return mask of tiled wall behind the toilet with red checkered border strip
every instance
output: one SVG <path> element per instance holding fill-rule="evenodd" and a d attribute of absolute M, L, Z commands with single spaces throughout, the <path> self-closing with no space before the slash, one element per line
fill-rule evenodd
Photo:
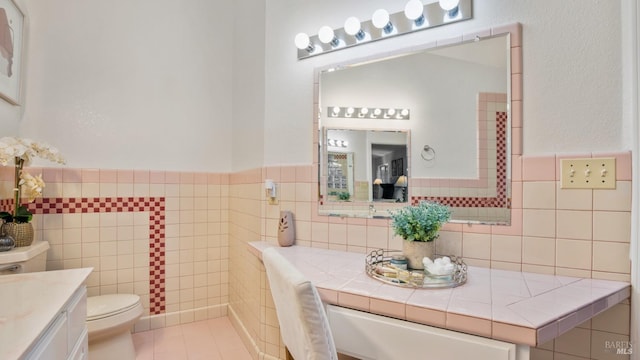
<path fill-rule="evenodd" d="M 137 331 L 226 315 L 228 175 L 30 168 L 43 197 L 29 204 L 47 270 L 93 267 L 88 294 L 135 293 Z M 13 168 L 0 168 L 11 207 Z"/>

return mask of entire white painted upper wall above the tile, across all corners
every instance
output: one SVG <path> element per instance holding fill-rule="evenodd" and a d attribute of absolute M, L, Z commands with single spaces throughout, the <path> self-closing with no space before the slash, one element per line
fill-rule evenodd
<path fill-rule="evenodd" d="M 21 3 L 30 17 L 26 96 L 21 108 L 0 103 L 2 134 L 48 141 L 72 167 L 309 164 L 315 67 L 512 22 L 524 32 L 525 154 L 626 150 L 632 143 L 621 111 L 616 1 L 476 1 L 471 21 L 304 61 L 295 56 L 297 32 L 341 27 L 350 15 L 369 19 L 378 7 L 401 11 L 404 2 L 271 0 L 263 4 L 264 26 L 251 21 L 262 18 L 258 0 Z M 242 8 L 254 12 L 244 30 L 236 23 L 244 32 L 232 35 L 227 29 Z M 234 82 L 233 74 L 245 77 Z M 244 156 L 258 151 L 262 160 Z"/>

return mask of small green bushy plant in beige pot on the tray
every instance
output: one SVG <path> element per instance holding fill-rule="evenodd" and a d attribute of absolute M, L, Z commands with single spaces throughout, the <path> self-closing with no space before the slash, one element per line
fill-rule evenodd
<path fill-rule="evenodd" d="M 418 205 L 391 211 L 391 227 L 395 235 L 404 239 L 402 252 L 410 268 L 423 269 L 422 259 L 433 257 L 434 240 L 442 224 L 450 218 L 449 207 L 435 201 L 421 201 Z"/>

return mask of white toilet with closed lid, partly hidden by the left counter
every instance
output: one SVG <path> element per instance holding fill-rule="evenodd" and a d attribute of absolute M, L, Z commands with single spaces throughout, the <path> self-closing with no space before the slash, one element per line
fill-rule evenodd
<path fill-rule="evenodd" d="M 45 271 L 46 241 L 0 252 L 0 275 Z M 133 294 L 110 294 L 87 297 L 89 359 L 134 360 L 136 358 L 131 328 L 142 316 L 140 297 Z"/>

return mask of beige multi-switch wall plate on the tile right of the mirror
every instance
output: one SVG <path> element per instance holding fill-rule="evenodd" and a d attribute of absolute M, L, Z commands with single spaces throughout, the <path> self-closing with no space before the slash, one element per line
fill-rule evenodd
<path fill-rule="evenodd" d="M 561 159 L 562 189 L 615 189 L 616 159 Z"/>

